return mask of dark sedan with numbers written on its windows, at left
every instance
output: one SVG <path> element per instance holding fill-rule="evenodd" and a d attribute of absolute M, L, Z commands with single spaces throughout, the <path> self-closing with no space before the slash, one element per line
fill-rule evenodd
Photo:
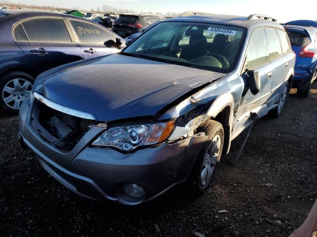
<path fill-rule="evenodd" d="M 100 24 L 48 11 L 1 10 L 0 35 L 0 104 L 13 113 L 28 98 L 40 73 L 125 46 Z"/>

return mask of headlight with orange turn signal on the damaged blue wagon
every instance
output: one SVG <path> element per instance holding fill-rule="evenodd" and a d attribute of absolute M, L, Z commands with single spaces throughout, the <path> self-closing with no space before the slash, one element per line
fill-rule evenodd
<path fill-rule="evenodd" d="M 171 133 L 175 121 L 111 127 L 101 134 L 93 146 L 116 147 L 131 151 L 139 146 L 157 144 L 164 141 Z"/>

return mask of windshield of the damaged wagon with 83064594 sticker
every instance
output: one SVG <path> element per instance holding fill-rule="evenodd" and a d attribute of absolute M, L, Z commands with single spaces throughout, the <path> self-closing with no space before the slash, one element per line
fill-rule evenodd
<path fill-rule="evenodd" d="M 210 71 L 230 72 L 245 29 L 234 26 L 161 22 L 123 50 L 124 54 Z"/>

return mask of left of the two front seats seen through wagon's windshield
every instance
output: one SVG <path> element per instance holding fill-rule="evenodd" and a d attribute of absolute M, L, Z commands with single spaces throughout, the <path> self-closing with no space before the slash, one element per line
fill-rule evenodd
<path fill-rule="evenodd" d="M 207 39 L 203 35 L 193 35 L 189 39 L 188 48 L 183 49 L 180 58 L 192 60 L 207 53 Z"/>

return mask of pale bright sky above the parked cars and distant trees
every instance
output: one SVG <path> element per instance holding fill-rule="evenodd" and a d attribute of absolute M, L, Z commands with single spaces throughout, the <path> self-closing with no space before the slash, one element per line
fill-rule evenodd
<path fill-rule="evenodd" d="M 134 12 L 203 11 L 215 14 L 265 14 L 280 22 L 298 19 L 317 19 L 317 0 L 9 0 L 15 3 L 80 7 L 87 10 L 103 4 Z"/>

